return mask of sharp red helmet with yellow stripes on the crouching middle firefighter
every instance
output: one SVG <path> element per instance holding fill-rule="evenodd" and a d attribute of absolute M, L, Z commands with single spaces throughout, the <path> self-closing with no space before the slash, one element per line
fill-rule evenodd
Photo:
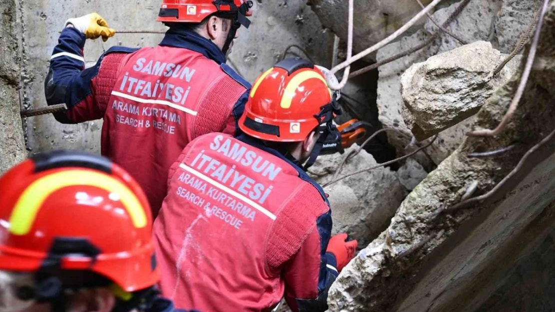
<path fill-rule="evenodd" d="M 300 58 L 285 59 L 256 79 L 239 127 L 261 140 L 304 141 L 317 126 L 331 123 L 339 110 L 334 104 L 320 69 Z"/>

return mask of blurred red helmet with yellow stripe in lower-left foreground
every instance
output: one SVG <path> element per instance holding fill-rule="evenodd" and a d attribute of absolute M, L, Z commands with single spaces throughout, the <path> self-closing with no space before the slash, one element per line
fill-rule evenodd
<path fill-rule="evenodd" d="M 106 158 L 34 156 L 0 177 L 0 205 L 0 270 L 92 272 L 128 292 L 159 280 L 147 198 Z"/>

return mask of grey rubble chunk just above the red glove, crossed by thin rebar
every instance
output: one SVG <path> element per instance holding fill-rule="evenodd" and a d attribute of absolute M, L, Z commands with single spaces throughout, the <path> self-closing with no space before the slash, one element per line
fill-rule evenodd
<path fill-rule="evenodd" d="M 344 155 L 325 155 L 317 161 L 309 172 L 321 185 L 332 180 L 337 166 L 353 145 Z M 339 176 L 361 170 L 376 161 L 372 155 L 362 150 L 358 155 L 347 161 Z M 397 207 L 407 195 L 405 187 L 397 179 L 396 172 L 388 168 L 377 168 L 370 172 L 346 178 L 324 189 L 330 195 L 334 233 L 346 232 L 365 245 L 377 237 L 390 222 L 397 211 Z"/>

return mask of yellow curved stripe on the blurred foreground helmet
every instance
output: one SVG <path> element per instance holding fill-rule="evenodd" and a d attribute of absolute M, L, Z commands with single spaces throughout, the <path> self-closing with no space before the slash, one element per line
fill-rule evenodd
<path fill-rule="evenodd" d="M 143 205 L 122 182 L 100 172 L 69 170 L 44 176 L 26 188 L 9 218 L 9 232 L 14 235 L 29 233 L 44 200 L 53 192 L 68 186 L 94 186 L 117 193 L 123 206 L 127 209 L 133 225 L 136 228 L 143 228 L 147 225 L 147 215 Z"/>

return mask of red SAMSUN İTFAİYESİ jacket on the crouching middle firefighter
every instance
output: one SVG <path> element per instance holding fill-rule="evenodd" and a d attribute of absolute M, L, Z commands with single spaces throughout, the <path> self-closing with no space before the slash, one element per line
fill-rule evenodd
<path fill-rule="evenodd" d="M 325 311 L 331 211 L 298 162 L 245 135 L 195 139 L 154 222 L 160 288 L 178 308 Z"/>

